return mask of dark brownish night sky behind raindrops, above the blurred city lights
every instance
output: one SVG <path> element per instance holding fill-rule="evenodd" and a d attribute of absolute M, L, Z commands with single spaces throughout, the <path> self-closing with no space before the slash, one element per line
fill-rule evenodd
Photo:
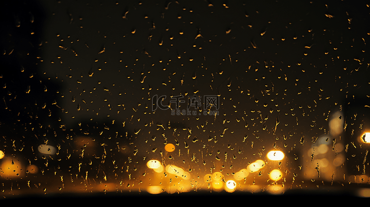
<path fill-rule="evenodd" d="M 127 123 L 134 116 L 141 122 L 188 126 L 195 117 L 171 116 L 169 110 L 143 113 L 151 112 L 148 98 L 155 94 L 189 97 L 197 92 L 221 95 L 220 113 L 226 116 L 219 116 L 219 122 L 246 115 L 258 118 L 254 110 L 263 117 L 269 114 L 270 129 L 276 117 L 282 123 L 295 123 L 297 117 L 302 124 L 290 128 L 292 133 L 308 130 L 317 136 L 308 127 L 312 119 L 323 126 L 328 112 L 344 104 L 346 95 L 368 95 L 369 61 L 363 51 L 369 38 L 364 27 L 369 7 L 364 2 L 209 3 L 43 2 L 46 22 L 39 66 L 46 72 L 43 77 L 60 83 L 62 120 L 74 126 L 80 119 Z M 205 120 L 213 117 L 201 116 L 198 122 Z M 141 128 L 141 122 L 130 124 Z M 231 123 L 230 128 L 238 126 Z"/>

